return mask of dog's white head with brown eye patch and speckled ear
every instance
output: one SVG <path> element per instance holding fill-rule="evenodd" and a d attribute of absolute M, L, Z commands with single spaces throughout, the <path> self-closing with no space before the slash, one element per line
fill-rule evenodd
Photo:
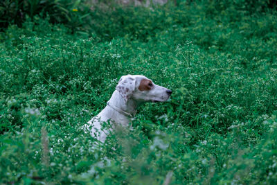
<path fill-rule="evenodd" d="M 168 100 L 172 91 L 155 85 L 152 80 L 141 75 L 122 76 L 116 90 L 127 103 L 130 98 L 137 101 L 163 102 Z"/>

